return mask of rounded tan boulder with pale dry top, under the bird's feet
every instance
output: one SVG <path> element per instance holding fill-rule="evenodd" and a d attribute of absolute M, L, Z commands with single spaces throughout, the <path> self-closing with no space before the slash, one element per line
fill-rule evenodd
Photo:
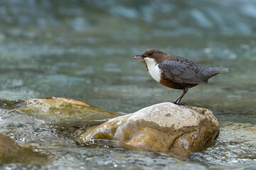
<path fill-rule="evenodd" d="M 109 141 L 114 147 L 186 157 L 213 145 L 218 134 L 218 121 L 212 111 L 159 103 L 90 128 L 77 142 Z"/>

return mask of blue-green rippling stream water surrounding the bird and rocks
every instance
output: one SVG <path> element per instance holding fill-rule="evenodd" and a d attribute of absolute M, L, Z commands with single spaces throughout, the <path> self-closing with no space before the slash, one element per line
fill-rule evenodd
<path fill-rule="evenodd" d="M 256 169 L 255 33 L 252 0 L 0 1 L 0 98 L 65 96 L 127 114 L 174 101 L 181 94 L 158 84 L 132 59 L 147 48 L 229 67 L 230 72 L 190 89 L 183 98 L 189 105 L 209 108 L 218 118 L 220 137 L 205 152 L 174 159 L 125 149 L 81 148 L 73 142 L 52 147 L 46 141 L 41 147 L 55 161 L 35 167 Z M 37 124 L 26 130 L 32 132 L 33 126 Z M 6 134 L 15 130 L 1 128 Z M 22 142 L 23 137 L 15 139 Z"/>

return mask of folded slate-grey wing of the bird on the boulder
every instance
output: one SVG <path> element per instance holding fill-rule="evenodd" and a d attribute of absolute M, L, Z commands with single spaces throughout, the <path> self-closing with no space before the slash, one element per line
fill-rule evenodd
<path fill-rule="evenodd" d="M 207 80 L 199 77 L 196 68 L 190 67 L 189 63 L 178 61 L 160 62 L 159 68 L 163 70 L 165 79 L 170 79 L 178 84 L 207 83 Z"/>

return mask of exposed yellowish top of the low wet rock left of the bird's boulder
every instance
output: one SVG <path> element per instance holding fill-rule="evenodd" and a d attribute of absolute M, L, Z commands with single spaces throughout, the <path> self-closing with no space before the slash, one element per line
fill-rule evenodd
<path fill-rule="evenodd" d="M 32 98 L 19 103 L 18 111 L 26 114 L 43 115 L 45 118 L 70 118 L 74 115 L 94 115 L 93 118 L 99 117 L 95 114 L 100 113 L 100 118 L 105 118 L 104 115 L 117 116 L 119 114 L 110 111 L 103 111 L 100 108 L 90 106 L 82 101 L 75 101 L 71 98 L 64 97 L 47 97 L 47 98 Z"/>

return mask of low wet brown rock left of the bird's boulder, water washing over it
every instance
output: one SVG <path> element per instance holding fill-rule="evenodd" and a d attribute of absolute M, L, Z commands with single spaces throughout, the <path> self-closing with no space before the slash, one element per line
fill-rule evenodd
<path fill-rule="evenodd" d="M 78 129 L 87 129 L 93 125 L 100 125 L 107 120 L 120 115 L 110 111 L 103 111 L 82 101 L 75 101 L 64 97 L 32 98 L 18 101 L 0 101 L 0 106 L 6 111 L 16 111 L 18 115 L 41 120 L 60 136 L 73 137 Z"/>

